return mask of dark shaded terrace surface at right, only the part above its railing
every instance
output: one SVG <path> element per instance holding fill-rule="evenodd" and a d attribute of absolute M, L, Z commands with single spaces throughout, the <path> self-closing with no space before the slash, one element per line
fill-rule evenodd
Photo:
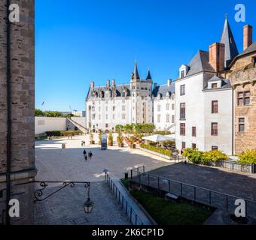
<path fill-rule="evenodd" d="M 150 171 L 152 175 L 208 188 L 221 193 L 251 199 L 256 202 L 256 174 L 217 167 L 179 163 Z"/>

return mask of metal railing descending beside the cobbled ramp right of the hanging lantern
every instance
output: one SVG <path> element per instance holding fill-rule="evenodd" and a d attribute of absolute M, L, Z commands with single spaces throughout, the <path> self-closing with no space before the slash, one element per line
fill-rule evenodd
<path fill-rule="evenodd" d="M 114 184 L 114 181 L 111 179 L 108 173 L 105 174 L 105 181 L 108 184 L 111 193 L 113 193 L 115 199 L 117 199 L 120 208 L 125 212 L 126 216 L 130 220 L 130 223 L 132 223 L 133 225 L 144 225 L 139 215 L 127 201 L 125 196 L 123 196 L 123 194 L 120 192 L 116 184 Z"/>

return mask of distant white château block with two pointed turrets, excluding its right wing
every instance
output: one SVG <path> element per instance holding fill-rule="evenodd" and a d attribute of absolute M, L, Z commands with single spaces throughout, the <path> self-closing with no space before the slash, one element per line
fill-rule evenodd
<path fill-rule="evenodd" d="M 130 84 L 115 85 L 114 80 L 106 86 L 94 86 L 86 99 L 87 128 L 90 130 L 114 130 L 117 124 L 151 124 L 153 122 L 152 80 L 150 71 L 141 80 L 137 65 Z"/>

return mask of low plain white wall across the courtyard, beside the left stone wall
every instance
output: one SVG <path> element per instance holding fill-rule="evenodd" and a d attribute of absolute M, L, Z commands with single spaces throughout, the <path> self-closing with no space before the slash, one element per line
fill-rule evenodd
<path fill-rule="evenodd" d="M 66 130 L 66 118 L 35 117 L 35 135 L 49 130 Z"/>

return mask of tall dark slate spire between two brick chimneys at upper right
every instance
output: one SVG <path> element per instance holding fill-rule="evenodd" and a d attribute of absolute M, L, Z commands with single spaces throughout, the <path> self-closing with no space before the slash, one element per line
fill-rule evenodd
<path fill-rule="evenodd" d="M 225 44 L 225 68 L 227 68 L 233 58 L 239 54 L 236 47 L 236 41 L 230 28 L 230 23 L 228 23 L 227 20 L 227 13 L 225 15 L 225 23 L 221 35 L 221 43 Z"/>

